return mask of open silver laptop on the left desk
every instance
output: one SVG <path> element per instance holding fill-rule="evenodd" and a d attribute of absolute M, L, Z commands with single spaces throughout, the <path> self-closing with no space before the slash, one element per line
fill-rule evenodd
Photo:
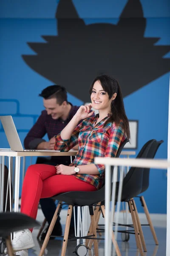
<path fill-rule="evenodd" d="M 12 151 L 60 152 L 59 150 L 23 149 L 12 116 L 0 116 L 0 120 Z"/>

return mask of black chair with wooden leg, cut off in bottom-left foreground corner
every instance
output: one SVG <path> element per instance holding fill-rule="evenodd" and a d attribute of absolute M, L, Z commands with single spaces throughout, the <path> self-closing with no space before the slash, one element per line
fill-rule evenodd
<path fill-rule="evenodd" d="M 6 244 L 8 250 L 8 256 L 14 256 L 14 252 L 11 245 L 10 233 L 26 228 L 32 228 L 40 226 L 40 224 L 28 217 L 27 215 L 20 212 L 1 212 L 0 213 L 0 237 L 1 252 L 3 253 L 4 244 Z"/>

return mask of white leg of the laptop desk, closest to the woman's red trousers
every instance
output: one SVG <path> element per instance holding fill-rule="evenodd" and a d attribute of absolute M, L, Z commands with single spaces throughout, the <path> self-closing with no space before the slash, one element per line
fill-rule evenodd
<path fill-rule="evenodd" d="M 19 188 L 20 188 L 20 157 L 16 157 L 16 162 L 15 162 L 14 212 L 18 212 Z"/>

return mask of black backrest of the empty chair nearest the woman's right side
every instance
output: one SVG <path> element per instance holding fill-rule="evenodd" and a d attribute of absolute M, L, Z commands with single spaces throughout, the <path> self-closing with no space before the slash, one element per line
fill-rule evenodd
<path fill-rule="evenodd" d="M 136 158 L 148 158 L 148 151 L 155 140 L 144 144 Z M 140 194 L 142 190 L 144 168 L 131 167 L 123 180 L 122 200 L 128 200 Z"/>

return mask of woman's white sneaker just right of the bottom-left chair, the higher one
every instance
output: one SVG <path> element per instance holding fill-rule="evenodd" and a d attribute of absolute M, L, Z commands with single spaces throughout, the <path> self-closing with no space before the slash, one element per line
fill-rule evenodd
<path fill-rule="evenodd" d="M 14 239 L 11 241 L 11 244 L 15 252 L 29 249 L 35 246 L 32 233 L 28 229 L 16 232 Z M 5 249 L 5 253 L 7 253 L 7 248 Z"/>

